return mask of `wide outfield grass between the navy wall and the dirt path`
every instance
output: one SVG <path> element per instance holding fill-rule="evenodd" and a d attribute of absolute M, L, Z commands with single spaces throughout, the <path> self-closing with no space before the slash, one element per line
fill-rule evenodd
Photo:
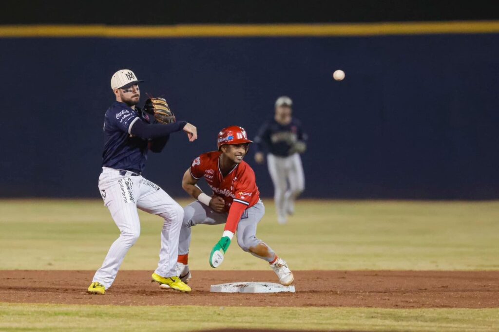
<path fill-rule="evenodd" d="M 189 201 L 181 201 L 184 206 Z M 280 226 L 271 200 L 258 237 L 294 270 L 498 270 L 499 202 L 301 200 Z M 162 220 L 140 213 L 122 269 L 156 267 Z M 119 232 L 100 200 L 0 200 L 1 269 L 100 267 Z M 223 226 L 193 228 L 191 269 L 209 269 Z M 221 269 L 266 269 L 233 244 Z"/>

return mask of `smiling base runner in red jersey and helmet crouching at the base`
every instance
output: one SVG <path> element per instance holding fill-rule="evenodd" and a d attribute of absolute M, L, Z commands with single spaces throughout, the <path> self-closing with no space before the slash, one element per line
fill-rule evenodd
<path fill-rule="evenodd" d="M 290 285 L 294 280 L 286 262 L 256 237 L 256 225 L 263 217 L 265 208 L 260 200 L 253 169 L 243 161 L 250 143 L 253 142 L 242 127 L 225 128 L 218 135 L 218 151 L 196 158 L 184 174 L 182 187 L 197 199 L 184 208 L 179 238 L 177 274 L 186 283 L 191 279 L 188 265 L 191 227 L 222 223 L 226 223 L 224 233 L 210 254 L 213 268 L 224 261 L 224 254 L 237 230 L 239 246 L 267 261 L 282 285 Z M 196 185 L 202 177 L 212 188 L 212 196 L 205 194 Z"/>

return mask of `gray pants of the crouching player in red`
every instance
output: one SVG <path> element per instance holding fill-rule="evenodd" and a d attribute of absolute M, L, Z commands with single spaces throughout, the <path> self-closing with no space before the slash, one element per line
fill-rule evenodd
<path fill-rule="evenodd" d="M 246 209 L 241 217 L 237 229 L 238 244 L 244 251 L 248 252 L 250 248 L 257 246 L 263 241 L 256 238 L 256 225 L 260 222 L 265 214 L 263 203 L 258 201 L 255 205 Z M 179 255 L 187 255 L 189 246 L 191 245 L 191 228 L 199 224 L 204 225 L 219 225 L 225 224 L 228 213 L 218 213 L 212 210 L 209 206 L 195 201 L 184 207 L 184 221 L 180 229 L 179 237 Z M 268 247 L 268 245 L 267 245 Z M 267 262 L 271 262 L 274 258 L 273 250 L 268 247 L 268 253 L 272 257 L 261 257 L 251 253 L 251 255 L 261 258 Z"/>

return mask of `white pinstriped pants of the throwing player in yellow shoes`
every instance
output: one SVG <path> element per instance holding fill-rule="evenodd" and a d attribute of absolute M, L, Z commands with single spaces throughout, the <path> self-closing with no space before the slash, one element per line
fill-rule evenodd
<path fill-rule="evenodd" d="M 164 219 L 161 231 L 161 250 L 156 273 L 162 277 L 175 276 L 179 234 L 184 218 L 184 209 L 163 189 L 141 175 L 102 167 L 99 190 L 104 205 L 111 212 L 120 236 L 109 248 L 102 267 L 97 270 L 92 282 L 99 282 L 106 289 L 111 287 L 128 249 L 140 236 L 140 220 L 137 208 Z"/>

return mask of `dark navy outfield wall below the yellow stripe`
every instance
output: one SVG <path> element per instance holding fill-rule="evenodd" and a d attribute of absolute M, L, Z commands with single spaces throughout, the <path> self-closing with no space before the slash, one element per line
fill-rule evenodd
<path fill-rule="evenodd" d="M 276 97 L 309 134 L 303 196 L 499 198 L 499 35 L 0 39 L 1 197 L 99 197 L 111 75 L 129 68 L 199 128 L 145 176 L 186 197 L 183 172 L 219 130 L 250 138 Z M 332 79 L 343 69 L 346 79 Z M 272 196 L 266 166 L 254 168 Z"/>

